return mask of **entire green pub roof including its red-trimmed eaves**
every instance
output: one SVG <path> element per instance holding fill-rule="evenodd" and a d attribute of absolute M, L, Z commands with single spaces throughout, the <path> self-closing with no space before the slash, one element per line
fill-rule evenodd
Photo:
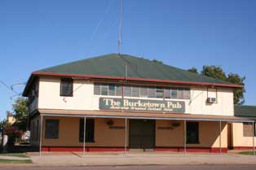
<path fill-rule="evenodd" d="M 180 68 L 174 68 L 173 66 L 161 62 L 143 59 L 141 57 L 135 57 L 128 54 L 105 54 L 33 72 L 24 89 L 24 96 L 27 95 L 27 90 L 29 89 L 30 83 L 33 82 L 33 78 L 42 75 L 148 81 L 179 85 L 212 85 L 232 88 L 243 87 L 243 85 L 235 85 L 227 81 L 202 76 Z"/>

